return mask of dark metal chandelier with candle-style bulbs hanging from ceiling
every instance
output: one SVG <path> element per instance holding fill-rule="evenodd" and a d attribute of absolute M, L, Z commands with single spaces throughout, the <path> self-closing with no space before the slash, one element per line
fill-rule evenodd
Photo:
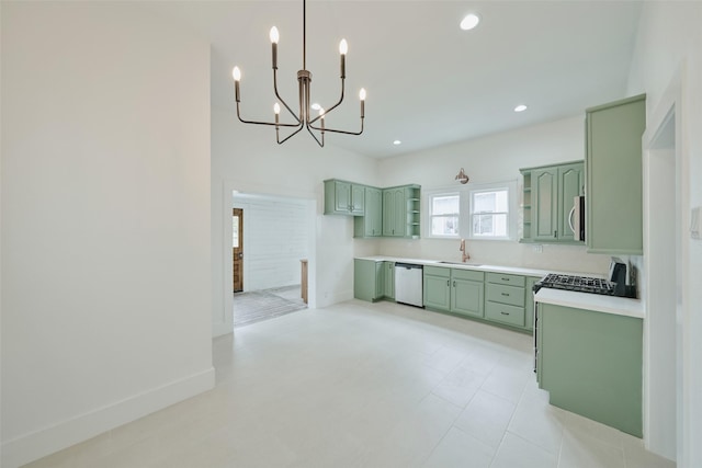
<path fill-rule="evenodd" d="M 331 111 L 337 109 L 339 104 L 343 101 L 343 91 L 344 91 L 344 82 L 346 82 L 346 56 L 349 49 L 346 39 L 341 39 L 339 43 L 339 54 L 341 58 L 341 96 L 339 98 L 339 102 L 337 102 L 331 107 L 326 111 L 324 107 L 319 107 L 319 114 L 316 117 L 310 115 L 313 110 L 313 104 L 310 103 L 310 83 L 312 83 L 312 72 L 307 70 L 307 14 L 306 14 L 307 5 L 306 0 L 303 0 L 303 69 L 297 71 L 297 82 L 299 90 L 299 111 L 295 113 L 290 105 L 281 98 L 278 92 L 278 41 L 279 33 L 275 26 L 271 27 L 270 38 L 272 46 L 272 56 L 273 56 L 273 91 L 275 93 L 275 98 L 283 104 L 283 106 L 287 110 L 287 112 L 293 116 L 295 123 L 282 123 L 280 122 L 281 114 L 281 105 L 276 102 L 273 105 L 273 113 L 275 114 L 275 122 L 257 122 L 257 121 L 247 121 L 241 118 L 241 113 L 239 110 L 239 103 L 241 101 L 239 93 L 239 83 L 241 81 L 241 70 L 239 67 L 234 67 L 231 70 L 231 76 L 234 78 L 234 88 L 237 101 L 237 117 L 245 124 L 256 124 L 256 125 L 270 125 L 275 127 L 275 139 L 279 145 L 284 144 L 291 137 L 299 133 L 303 128 L 307 128 L 307 132 L 315 138 L 317 144 L 320 147 L 325 146 L 325 133 L 331 132 L 335 134 L 344 134 L 344 135 L 361 135 L 363 133 L 363 118 L 365 114 L 365 89 L 361 88 L 359 92 L 359 99 L 361 100 L 361 129 L 359 132 L 347 132 L 340 130 L 336 128 L 325 127 L 325 116 L 329 114 Z M 280 129 L 284 128 L 294 128 L 295 130 L 288 136 L 284 137 L 281 140 Z M 317 136 L 315 133 L 319 134 Z"/>

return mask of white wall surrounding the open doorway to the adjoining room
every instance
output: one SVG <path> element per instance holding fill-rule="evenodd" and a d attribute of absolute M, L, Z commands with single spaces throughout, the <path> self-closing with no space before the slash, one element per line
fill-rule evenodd
<path fill-rule="evenodd" d="M 261 104 L 268 105 L 268 104 Z M 246 125 L 236 109 L 212 107 L 212 249 L 215 335 L 231 333 L 231 191 L 294 196 L 316 202 L 309 253 L 309 306 L 325 307 L 353 297 L 353 256 L 377 252 L 375 242 L 353 240 L 353 219 L 324 216 L 325 179 L 377 185 L 375 159 L 335 148 L 328 136 L 319 148 L 306 133 L 284 145 L 270 127 Z"/>

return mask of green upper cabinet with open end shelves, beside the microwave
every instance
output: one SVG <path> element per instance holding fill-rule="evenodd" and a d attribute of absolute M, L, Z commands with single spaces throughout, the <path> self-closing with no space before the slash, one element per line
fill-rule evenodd
<path fill-rule="evenodd" d="M 523 175 L 521 242 L 582 244 L 570 228 L 574 198 L 585 195 L 585 163 L 520 169 Z"/>

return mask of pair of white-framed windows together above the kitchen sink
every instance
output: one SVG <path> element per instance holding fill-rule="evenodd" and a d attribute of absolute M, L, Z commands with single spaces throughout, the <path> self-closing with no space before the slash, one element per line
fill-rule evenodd
<path fill-rule="evenodd" d="M 427 237 L 498 239 L 517 236 L 517 181 L 427 193 Z"/>

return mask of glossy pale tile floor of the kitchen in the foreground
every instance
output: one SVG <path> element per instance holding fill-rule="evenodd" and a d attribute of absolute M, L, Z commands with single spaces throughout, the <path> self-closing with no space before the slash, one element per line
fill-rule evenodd
<path fill-rule="evenodd" d="M 214 342 L 217 385 L 39 467 L 669 468 L 547 403 L 531 336 L 349 301 Z"/>

